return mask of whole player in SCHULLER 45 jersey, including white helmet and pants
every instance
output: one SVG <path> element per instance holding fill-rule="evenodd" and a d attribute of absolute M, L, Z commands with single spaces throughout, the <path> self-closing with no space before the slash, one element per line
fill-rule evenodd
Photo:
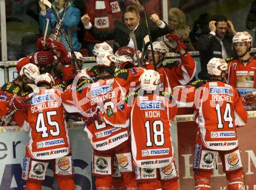
<path fill-rule="evenodd" d="M 41 189 L 45 172 L 51 162 L 60 189 L 74 189 L 71 145 L 67 135 L 61 94 L 52 89 L 54 79 L 48 73 L 39 75 L 35 83 L 38 94 L 29 94 L 25 113 L 30 131 L 23 160 L 22 179 L 26 190 Z"/>

